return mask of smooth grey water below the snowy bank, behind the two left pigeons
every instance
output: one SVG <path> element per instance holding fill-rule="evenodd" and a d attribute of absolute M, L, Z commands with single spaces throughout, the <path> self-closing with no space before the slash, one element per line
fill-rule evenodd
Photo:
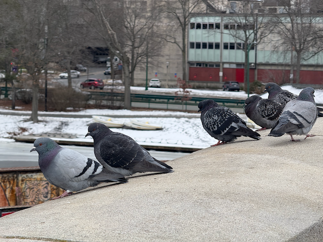
<path fill-rule="evenodd" d="M 29 167 L 38 165 L 38 153 L 30 152 L 33 147 L 31 143 L 24 142 L 0 142 L 0 168 L 4 167 Z M 88 158 L 97 160 L 94 156 L 93 147 L 62 145 L 72 150 L 75 150 Z M 166 152 L 153 151 L 149 153 L 158 160 L 172 160 L 189 153 L 183 152 Z"/>

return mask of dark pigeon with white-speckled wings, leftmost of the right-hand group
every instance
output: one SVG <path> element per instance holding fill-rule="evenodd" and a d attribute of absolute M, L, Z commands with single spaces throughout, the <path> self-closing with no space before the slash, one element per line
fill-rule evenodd
<path fill-rule="evenodd" d="M 198 108 L 198 111 L 201 112 L 204 130 L 210 136 L 219 140 L 217 144 L 211 146 L 234 141 L 240 136 L 248 136 L 255 140 L 260 139 L 260 135 L 249 129 L 246 123 L 230 108 L 219 106 L 211 99 L 200 101 Z"/>

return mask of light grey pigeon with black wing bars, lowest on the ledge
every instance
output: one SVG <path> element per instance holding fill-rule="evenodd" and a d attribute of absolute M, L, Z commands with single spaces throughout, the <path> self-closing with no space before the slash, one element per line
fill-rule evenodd
<path fill-rule="evenodd" d="M 30 150 L 38 152 L 41 172 L 50 184 L 66 190 L 58 199 L 99 183 L 127 183 L 124 175 L 105 169 L 100 163 L 67 148 L 49 138 L 38 138 Z"/>

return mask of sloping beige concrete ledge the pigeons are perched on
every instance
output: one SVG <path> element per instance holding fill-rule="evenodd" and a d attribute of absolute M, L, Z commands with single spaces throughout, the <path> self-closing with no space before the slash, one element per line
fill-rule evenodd
<path fill-rule="evenodd" d="M 0 241 L 323 241 L 322 125 L 300 142 L 261 131 L 169 161 L 173 173 L 7 215 Z"/>

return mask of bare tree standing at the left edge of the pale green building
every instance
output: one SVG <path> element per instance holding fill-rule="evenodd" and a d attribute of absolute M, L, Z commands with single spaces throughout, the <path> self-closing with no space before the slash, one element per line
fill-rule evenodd
<path fill-rule="evenodd" d="M 203 4 L 200 0 L 161 0 L 158 1 L 158 6 L 161 11 L 172 17 L 176 23 L 178 23 L 178 29 L 174 29 L 172 32 L 167 32 L 164 35 L 164 39 L 169 42 L 176 44 L 182 52 L 182 67 L 183 67 L 183 80 L 187 80 L 187 29 L 190 19 L 200 14 Z M 179 35 L 180 39 L 177 38 Z"/>

